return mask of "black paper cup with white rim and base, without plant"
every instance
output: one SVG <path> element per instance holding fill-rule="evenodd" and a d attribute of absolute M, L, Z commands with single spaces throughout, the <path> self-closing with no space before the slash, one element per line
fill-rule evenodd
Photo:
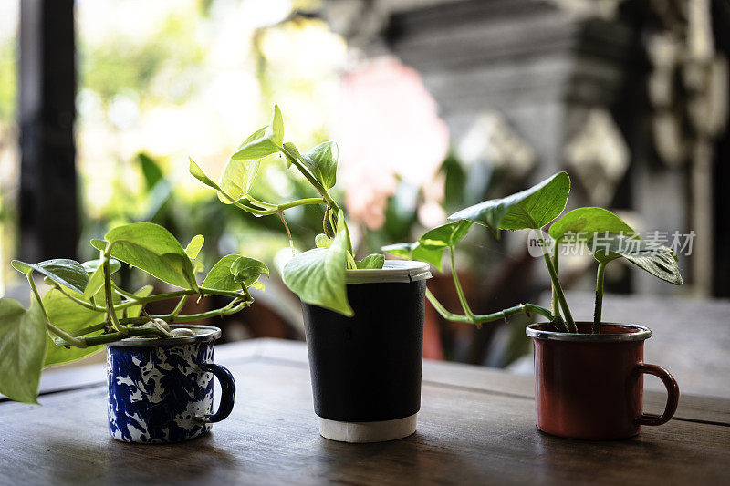
<path fill-rule="evenodd" d="M 387 260 L 380 270 L 348 270 L 354 316 L 302 304 L 322 437 L 378 442 L 415 432 L 430 277 L 428 264 Z"/>

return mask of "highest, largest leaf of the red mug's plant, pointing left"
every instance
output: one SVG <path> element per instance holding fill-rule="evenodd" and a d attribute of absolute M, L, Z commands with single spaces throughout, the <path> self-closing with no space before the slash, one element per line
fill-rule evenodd
<path fill-rule="evenodd" d="M 498 237 L 498 230 L 542 228 L 563 212 L 569 192 L 570 178 L 562 171 L 525 191 L 455 212 L 449 216 L 449 221 L 484 224 L 495 237 Z"/>

